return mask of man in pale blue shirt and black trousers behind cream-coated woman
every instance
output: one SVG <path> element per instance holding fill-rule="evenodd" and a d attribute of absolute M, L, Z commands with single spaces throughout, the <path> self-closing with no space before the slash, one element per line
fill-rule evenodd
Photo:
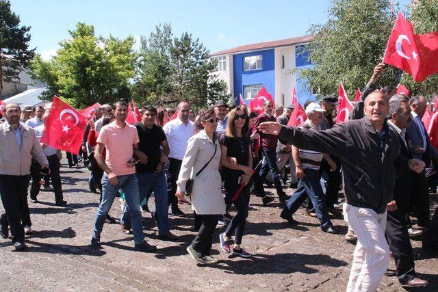
<path fill-rule="evenodd" d="M 164 133 L 169 144 L 169 169 L 167 176 L 169 204 L 172 205 L 172 214 L 185 215 L 178 207 L 178 199 L 175 196 L 177 192 L 177 179 L 179 169 L 185 155 L 187 143 L 194 134 L 194 122 L 189 120 L 190 105 L 185 101 L 178 104 L 178 117 L 170 120 L 164 127 Z"/>

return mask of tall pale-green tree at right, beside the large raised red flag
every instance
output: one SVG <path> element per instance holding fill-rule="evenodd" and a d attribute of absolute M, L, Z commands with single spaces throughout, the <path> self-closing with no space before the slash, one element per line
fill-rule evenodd
<path fill-rule="evenodd" d="M 314 40 L 305 47 L 313 68 L 296 69 L 298 78 L 305 78 L 309 87 L 319 88 L 320 94 L 336 92 L 339 82 L 350 98 L 356 88 L 370 79 L 374 66 L 381 62 L 391 29 L 388 0 L 332 0 L 329 21 L 313 25 Z M 385 68 L 378 85 L 396 85 L 399 70 Z"/>

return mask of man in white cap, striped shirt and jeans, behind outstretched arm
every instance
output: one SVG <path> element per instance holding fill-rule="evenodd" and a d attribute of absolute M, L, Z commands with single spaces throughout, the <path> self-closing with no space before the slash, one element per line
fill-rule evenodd
<path fill-rule="evenodd" d="M 310 103 L 307 105 L 306 114 L 308 120 L 306 120 L 301 127 L 318 131 L 318 126 L 323 118 L 323 112 L 324 109 L 322 109 L 318 103 Z M 326 233 L 337 233 L 337 229 L 333 227 L 330 221 L 329 212 L 327 211 L 324 201 L 324 192 L 320 185 L 320 164 L 322 159 L 326 159 L 329 165 L 331 165 L 331 171 L 336 170 L 336 163 L 329 155 L 312 150 L 298 149 L 295 146 L 292 146 L 292 155 L 296 165 L 296 177 L 300 178 L 300 181 L 298 188 L 294 195 L 292 195 L 292 198 L 287 202 L 287 206 L 283 209 L 280 216 L 291 225 L 298 224 L 298 222 L 292 218 L 292 215 L 306 200 L 307 196 L 309 196 L 315 208 L 316 216 L 321 222 L 320 227 L 322 231 Z"/>

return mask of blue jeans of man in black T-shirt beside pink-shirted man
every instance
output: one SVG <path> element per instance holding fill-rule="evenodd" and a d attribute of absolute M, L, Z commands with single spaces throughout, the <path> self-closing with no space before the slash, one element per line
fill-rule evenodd
<path fill-rule="evenodd" d="M 150 191 L 153 191 L 155 196 L 155 212 L 157 212 L 158 218 L 158 235 L 165 235 L 170 230 L 166 176 L 164 175 L 164 172 L 147 172 L 137 174 L 137 178 L 138 189 L 140 190 L 139 207 L 140 202 L 143 202 L 146 195 L 149 194 Z M 126 206 L 123 210 L 122 219 L 120 221 L 127 226 L 130 225 Z"/>

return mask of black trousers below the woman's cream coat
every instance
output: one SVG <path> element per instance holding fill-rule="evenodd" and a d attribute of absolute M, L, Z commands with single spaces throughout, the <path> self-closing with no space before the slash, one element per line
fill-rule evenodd
<path fill-rule="evenodd" d="M 202 221 L 196 237 L 192 241 L 192 248 L 200 252 L 203 256 L 209 256 L 211 245 L 213 244 L 213 234 L 218 225 L 220 215 L 199 215 L 198 220 Z"/>

